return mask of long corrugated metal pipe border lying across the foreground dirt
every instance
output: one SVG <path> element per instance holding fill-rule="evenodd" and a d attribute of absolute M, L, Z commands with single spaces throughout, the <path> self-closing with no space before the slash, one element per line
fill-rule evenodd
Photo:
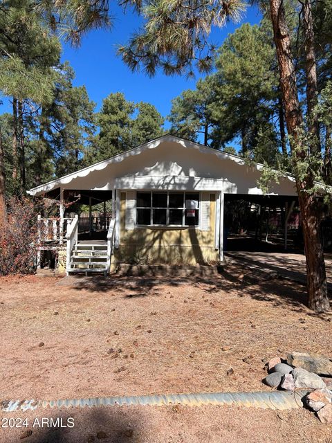
<path fill-rule="evenodd" d="M 294 409 L 303 407 L 302 399 L 309 390 L 273 392 L 202 392 L 197 394 L 135 395 L 129 397 L 95 397 L 86 399 L 59 400 L 4 400 L 0 401 L 2 412 L 35 410 L 37 408 L 93 408 L 95 406 L 187 406 L 237 405 L 248 408 Z"/>

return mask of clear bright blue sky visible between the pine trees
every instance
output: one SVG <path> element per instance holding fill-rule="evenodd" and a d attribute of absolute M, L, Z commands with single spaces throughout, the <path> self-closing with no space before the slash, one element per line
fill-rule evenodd
<path fill-rule="evenodd" d="M 143 73 L 131 73 L 120 57 L 116 55 L 117 44 L 124 44 L 133 30 L 138 30 L 140 20 L 137 15 L 127 12 L 122 14 L 120 8 L 113 11 L 115 15 L 112 30 L 95 30 L 84 36 L 80 48 L 63 45 L 62 61 L 68 60 L 75 70 L 75 86 L 84 84 L 89 97 L 100 109 L 102 99 L 111 92 L 122 92 L 127 100 L 145 101 L 156 106 L 164 117 L 169 114 L 172 98 L 184 89 L 194 88 L 196 80 L 186 80 L 180 76 L 167 77 L 158 73 L 149 78 Z M 250 7 L 243 15 L 242 23 L 258 23 L 261 16 L 257 8 Z M 241 24 L 227 24 L 224 28 L 212 30 L 211 39 L 220 46 L 229 33 Z M 1 111 L 9 111 L 8 103 L 3 103 Z"/>

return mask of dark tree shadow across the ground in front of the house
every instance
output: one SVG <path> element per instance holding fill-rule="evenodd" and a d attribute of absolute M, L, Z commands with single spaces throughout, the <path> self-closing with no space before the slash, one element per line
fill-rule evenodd
<path fill-rule="evenodd" d="M 278 268 L 270 266 L 270 270 L 278 271 Z M 203 291 L 208 293 L 228 291 L 238 297 L 250 297 L 257 301 L 270 302 L 274 307 L 283 305 L 294 311 L 308 311 L 304 283 L 284 278 L 277 272 L 261 271 L 259 265 L 257 269 L 248 271 L 246 264 L 242 266 L 239 263 L 230 264 L 221 273 L 206 278 L 116 277 L 114 275 L 104 278 L 94 275 L 89 277 L 71 276 L 68 279 L 70 280 L 67 280 L 66 284 L 77 291 L 84 289 L 91 292 L 122 292 L 124 300 L 160 296 L 158 288 L 162 286 L 169 287 L 169 291 L 172 291 L 172 287 L 192 284 L 194 287 L 201 287 Z M 311 311 L 308 311 L 308 315 L 326 319 L 324 315 Z"/>

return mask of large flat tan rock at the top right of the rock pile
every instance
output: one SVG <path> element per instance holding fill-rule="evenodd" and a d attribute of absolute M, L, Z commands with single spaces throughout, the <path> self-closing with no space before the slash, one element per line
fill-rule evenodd
<path fill-rule="evenodd" d="M 304 368 L 308 372 L 315 372 L 315 374 L 332 375 L 332 361 L 324 355 L 291 352 L 287 355 L 287 363 L 295 368 Z"/>

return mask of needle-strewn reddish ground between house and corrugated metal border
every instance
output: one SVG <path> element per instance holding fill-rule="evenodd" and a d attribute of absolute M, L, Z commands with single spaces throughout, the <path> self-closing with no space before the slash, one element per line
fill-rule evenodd
<path fill-rule="evenodd" d="M 1 399 L 268 390 L 272 356 L 331 356 L 305 287 L 243 280 L 0 278 Z M 69 283 L 71 280 L 69 280 Z"/>

